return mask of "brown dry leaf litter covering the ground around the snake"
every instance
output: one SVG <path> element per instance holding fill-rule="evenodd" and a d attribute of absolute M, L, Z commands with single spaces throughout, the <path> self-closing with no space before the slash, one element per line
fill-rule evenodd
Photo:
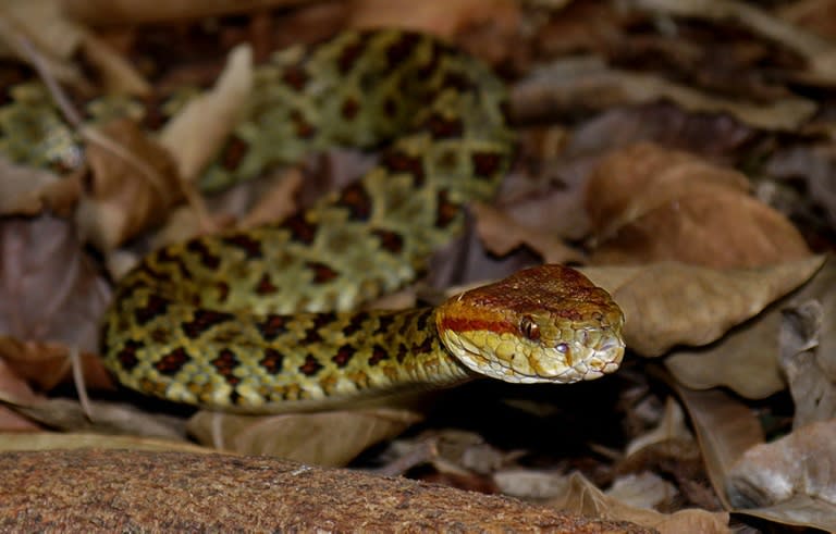
<path fill-rule="evenodd" d="M 27 2 L 19 3 L 15 10 Z M 143 95 L 206 72 L 202 85 L 217 80 L 218 89 L 172 123 L 161 144 L 130 122 L 103 125 L 103 152 L 89 145 L 83 172 L 59 176 L 0 165 L 0 394 L 10 415 L 0 412 L 0 424 L 7 432 L 91 432 L 101 436 L 95 446 L 107 446 L 113 433 L 125 434 L 110 438 L 120 447 L 140 447 L 151 435 L 185 444 L 177 410 L 165 419 L 176 430 L 163 431 L 169 423 L 157 412 L 170 407 L 149 405 L 143 413 L 133 406 L 142 409 L 140 400 L 99 393 L 112 386 L 96 359 L 98 321 L 112 287 L 100 274 L 103 265 L 121 264 L 110 272 L 124 272 L 149 246 L 281 218 L 299 198 L 334 187 L 319 179 L 314 160 L 214 198 L 197 197 L 189 183 L 246 98 L 250 52 L 232 53 L 224 75 L 220 61 L 206 71 L 195 58 L 221 58 L 249 41 L 258 60 L 282 38 L 315 40 L 341 21 L 411 20 L 509 76 L 520 157 L 496 201 L 470 210 L 469 234 L 437 254 L 427 285 L 405 301 L 416 291 L 432 295 L 428 286 L 497 278 L 530 262 L 583 264 L 625 309 L 630 352 L 624 369 L 561 392 L 474 385 L 418 412 L 267 419 L 198 412 L 190 434 L 206 447 L 330 465 L 354 461 L 661 532 L 726 532 L 733 511 L 738 525 L 748 513 L 834 527 L 833 261 L 812 256 L 831 250 L 836 236 L 834 125 L 832 104 L 799 90 L 836 84 L 829 29 L 836 25 L 823 23 L 833 15 L 799 14 L 832 2 L 775 10 L 725 0 L 618 8 L 580 0 L 311 4 L 251 14 L 258 24 L 244 27 L 221 15 L 201 32 L 216 32 L 223 50 L 201 49 L 197 34 L 161 22 L 198 21 L 208 15 L 200 5 L 187 15 L 127 11 L 121 27 L 102 30 L 78 21 L 107 12 L 72 3 L 75 22 L 53 25 L 58 37 L 32 37 L 36 53 L 49 58 L 47 72 L 66 90 L 87 95 L 101 84 Z M 27 28 L 38 28 L 40 17 L 63 15 L 24 10 L 13 16 L 25 24 L 3 26 L 0 39 L 32 35 Z M 100 70 L 96 82 L 71 55 L 50 48 L 61 42 L 82 47 Z M 341 156 L 329 161 L 349 174 L 362 167 Z M 186 207 L 171 216 L 184 198 Z M 90 256 L 76 235 L 100 256 Z M 72 348 L 84 353 L 93 421 L 67 400 L 74 397 Z M 102 398 L 113 395 L 120 403 Z M 505 415 L 467 415 L 485 410 Z M 777 422 L 762 424 L 766 415 Z M 615 424 L 592 432 L 589 421 L 602 418 Z M 565 429 L 581 435 L 558 439 L 540 431 L 539 439 L 525 439 L 544 425 L 556 436 Z M 40 447 L 35 436 L 28 447 L 26 439 L 5 447 Z M 374 443 L 383 445 L 369 449 Z"/>

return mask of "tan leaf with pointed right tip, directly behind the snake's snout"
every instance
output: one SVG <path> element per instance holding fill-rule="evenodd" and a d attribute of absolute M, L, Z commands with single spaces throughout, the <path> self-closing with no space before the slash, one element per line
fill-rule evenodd
<path fill-rule="evenodd" d="M 662 262 L 581 271 L 624 310 L 627 346 L 653 357 L 676 345 L 714 341 L 804 283 L 823 261 L 812 257 L 769 268 L 725 270 Z"/>

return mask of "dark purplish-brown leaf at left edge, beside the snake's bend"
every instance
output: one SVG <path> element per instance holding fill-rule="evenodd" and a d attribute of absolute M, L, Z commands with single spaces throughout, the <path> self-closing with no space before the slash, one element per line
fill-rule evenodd
<path fill-rule="evenodd" d="M 109 301 L 108 283 L 69 223 L 41 216 L 0 224 L 0 356 L 19 374 L 48 389 L 65 378 L 73 347 L 90 355 L 87 383 L 109 384 L 91 356 Z"/>

